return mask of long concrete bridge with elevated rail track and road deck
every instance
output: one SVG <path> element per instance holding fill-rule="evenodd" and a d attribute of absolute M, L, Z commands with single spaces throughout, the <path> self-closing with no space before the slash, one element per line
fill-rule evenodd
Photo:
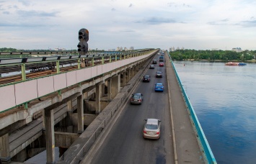
<path fill-rule="evenodd" d="M 216 163 L 169 54 L 164 53 L 164 68 L 156 66 L 163 78 L 148 69 L 158 52 L 0 60 L 0 67 L 19 65 L 22 72 L 0 86 L 1 163 L 22 163 L 44 150 L 47 163 Z M 72 58 L 76 65 L 61 69 Z M 56 68 L 27 78 L 26 66 L 38 61 Z M 151 82 L 142 84 L 145 74 Z M 163 93 L 152 92 L 156 81 L 164 83 Z M 128 104 L 135 91 L 144 93 L 141 106 Z M 162 119 L 157 141 L 143 140 L 147 117 Z"/>

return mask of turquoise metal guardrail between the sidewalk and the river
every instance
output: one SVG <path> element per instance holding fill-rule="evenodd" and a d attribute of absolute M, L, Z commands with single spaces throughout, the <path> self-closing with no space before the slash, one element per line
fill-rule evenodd
<path fill-rule="evenodd" d="M 169 55 L 169 59 L 170 59 L 170 62 L 172 63 L 173 69 L 175 70 L 175 75 L 176 75 L 177 81 L 178 81 L 178 83 L 180 85 L 182 94 L 184 96 L 185 103 L 187 105 L 187 109 L 190 112 L 190 120 L 193 122 L 193 125 L 194 125 L 194 128 L 195 128 L 195 132 L 196 132 L 197 137 L 198 137 L 198 141 L 200 142 L 200 148 L 202 149 L 203 155 L 205 155 L 206 162 L 207 163 L 211 163 L 211 164 L 216 164 L 217 163 L 216 159 L 214 158 L 213 152 L 211 151 L 211 147 L 208 144 L 208 141 L 206 139 L 206 135 L 204 134 L 203 129 L 202 129 L 201 125 L 200 125 L 200 122 L 198 121 L 198 117 L 196 116 L 195 111 L 193 109 L 193 106 L 190 103 L 190 99 L 188 98 L 188 96 L 187 96 L 187 94 L 185 92 L 185 89 L 182 86 L 182 82 L 180 81 L 180 78 L 179 78 L 179 76 L 177 74 L 175 65 L 173 64 L 172 58 L 171 58 L 170 55 Z"/>

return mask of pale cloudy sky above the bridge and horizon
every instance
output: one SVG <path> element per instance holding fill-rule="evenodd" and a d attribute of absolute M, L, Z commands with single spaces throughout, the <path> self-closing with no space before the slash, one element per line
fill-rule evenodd
<path fill-rule="evenodd" d="M 255 0 L 0 0 L 0 47 L 256 50 Z"/>

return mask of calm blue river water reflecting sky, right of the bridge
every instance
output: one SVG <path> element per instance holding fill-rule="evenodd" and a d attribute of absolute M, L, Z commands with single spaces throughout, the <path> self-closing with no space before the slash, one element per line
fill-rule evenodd
<path fill-rule="evenodd" d="M 256 64 L 175 61 L 217 163 L 256 163 Z"/>

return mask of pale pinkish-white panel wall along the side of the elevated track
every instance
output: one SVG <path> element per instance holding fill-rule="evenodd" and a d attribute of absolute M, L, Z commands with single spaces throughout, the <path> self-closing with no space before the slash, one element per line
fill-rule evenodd
<path fill-rule="evenodd" d="M 15 106 L 32 101 L 33 99 L 39 99 L 42 96 L 60 91 L 61 89 L 76 83 L 87 81 L 124 65 L 129 65 L 138 60 L 148 58 L 153 53 L 155 52 L 103 65 L 96 65 L 94 67 L 60 73 L 54 76 L 21 81 L 20 83 L 2 86 L 0 87 L 0 112 L 12 109 Z"/>

